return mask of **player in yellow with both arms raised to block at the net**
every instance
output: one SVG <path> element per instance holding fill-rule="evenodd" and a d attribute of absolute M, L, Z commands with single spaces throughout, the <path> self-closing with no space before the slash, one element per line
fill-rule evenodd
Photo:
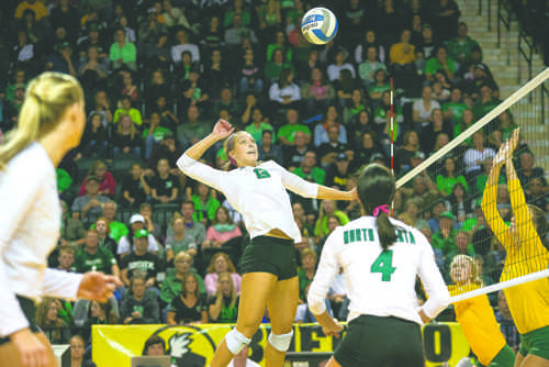
<path fill-rule="evenodd" d="M 502 145 L 494 158 L 482 198 L 482 211 L 507 257 L 500 281 L 541 271 L 549 265 L 544 247 L 548 224 L 537 207 L 526 205 L 524 191 L 513 166 L 513 151 L 518 145 L 518 129 Z M 507 226 L 496 209 L 497 177 L 505 164 L 513 218 Z M 515 367 L 549 366 L 549 281 L 547 278 L 504 289 L 511 314 L 520 333 L 520 349 Z"/>

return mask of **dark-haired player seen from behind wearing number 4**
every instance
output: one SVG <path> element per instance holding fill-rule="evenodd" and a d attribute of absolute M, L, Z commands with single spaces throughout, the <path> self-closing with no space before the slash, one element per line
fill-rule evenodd
<path fill-rule="evenodd" d="M 348 332 L 328 367 L 423 367 L 421 324 L 437 316 L 450 294 L 427 238 L 416 229 L 389 218 L 394 176 L 381 165 L 360 174 L 358 196 L 367 215 L 337 227 L 324 245 L 309 290 L 309 308 L 326 335 L 343 326 L 326 312 L 324 299 L 339 268 L 350 299 Z M 428 300 L 418 307 L 419 276 Z"/>

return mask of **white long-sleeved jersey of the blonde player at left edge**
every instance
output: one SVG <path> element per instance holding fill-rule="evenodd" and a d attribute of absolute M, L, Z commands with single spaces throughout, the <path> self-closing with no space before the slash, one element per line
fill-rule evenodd
<path fill-rule="evenodd" d="M 29 326 L 15 294 L 76 299 L 81 275 L 47 269 L 59 237 L 55 167 L 38 143 L 0 170 L 0 337 Z"/>

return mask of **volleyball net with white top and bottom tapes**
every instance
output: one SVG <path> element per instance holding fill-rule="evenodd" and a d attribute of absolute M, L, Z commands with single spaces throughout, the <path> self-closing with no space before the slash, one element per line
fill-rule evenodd
<path fill-rule="evenodd" d="M 416 160 L 415 167 L 412 162 L 412 169 L 396 181 L 402 193 L 397 213 L 405 221 L 414 212 L 408 207 L 421 208 L 424 216 L 412 221 L 430 235 L 447 283 L 453 282 L 457 255 L 474 259 L 483 287 L 458 292 L 451 302 L 549 277 L 547 233 L 530 224 L 549 211 L 548 79 L 549 68 L 503 102 L 486 99 L 473 107 L 478 121 L 468 129 L 451 126 L 452 140 L 448 126 L 434 127 L 438 133 L 430 156 Z M 489 181 L 493 157 L 516 127 L 520 140 L 513 164 L 518 180 L 509 181 L 503 165 Z"/>

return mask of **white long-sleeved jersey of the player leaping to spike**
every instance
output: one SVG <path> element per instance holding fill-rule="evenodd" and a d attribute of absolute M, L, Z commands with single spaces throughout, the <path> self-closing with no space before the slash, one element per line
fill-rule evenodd
<path fill-rule="evenodd" d="M 285 189 L 305 198 L 316 198 L 318 185 L 305 181 L 272 160 L 224 171 L 183 154 L 177 165 L 186 175 L 223 192 L 243 215 L 251 238 L 278 229 L 295 242 L 301 241 Z"/>

